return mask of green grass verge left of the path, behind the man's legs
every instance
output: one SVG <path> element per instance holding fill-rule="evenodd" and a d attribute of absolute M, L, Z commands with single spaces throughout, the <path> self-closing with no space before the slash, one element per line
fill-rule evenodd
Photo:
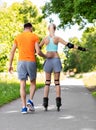
<path fill-rule="evenodd" d="M 26 93 L 29 94 L 29 82 L 27 82 Z M 37 83 L 36 89 L 42 88 L 43 83 Z M 20 97 L 20 84 L 18 79 L 12 75 L 0 74 L 0 106 L 7 104 Z"/>

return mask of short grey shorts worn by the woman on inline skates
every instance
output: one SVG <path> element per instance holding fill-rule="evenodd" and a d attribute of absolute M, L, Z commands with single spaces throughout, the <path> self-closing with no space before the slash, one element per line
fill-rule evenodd
<path fill-rule="evenodd" d="M 45 72 L 60 72 L 62 70 L 61 61 L 59 58 L 50 58 L 44 62 L 43 69 Z"/>

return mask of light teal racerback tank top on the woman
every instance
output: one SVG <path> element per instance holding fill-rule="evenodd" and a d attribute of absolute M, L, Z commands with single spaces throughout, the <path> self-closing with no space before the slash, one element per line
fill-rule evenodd
<path fill-rule="evenodd" d="M 46 46 L 46 51 L 57 51 L 58 50 L 58 45 L 56 45 L 54 42 L 53 42 L 53 39 L 49 36 L 49 43 L 48 45 Z"/>

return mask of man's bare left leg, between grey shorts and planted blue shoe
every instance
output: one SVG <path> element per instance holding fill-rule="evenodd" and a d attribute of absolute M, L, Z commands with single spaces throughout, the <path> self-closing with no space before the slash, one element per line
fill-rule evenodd
<path fill-rule="evenodd" d="M 20 80 L 20 96 L 22 101 L 22 108 L 26 107 L 26 81 Z"/>

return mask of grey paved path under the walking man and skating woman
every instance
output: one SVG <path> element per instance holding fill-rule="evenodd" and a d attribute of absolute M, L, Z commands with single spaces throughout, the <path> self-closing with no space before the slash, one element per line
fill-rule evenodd
<path fill-rule="evenodd" d="M 20 99 L 0 108 L 0 130 L 96 130 L 96 99 L 81 80 L 65 79 L 61 85 L 60 112 L 56 111 L 54 87 L 47 112 L 42 107 L 43 89 L 39 89 L 34 97 L 36 111 L 31 114 L 20 113 Z"/>

